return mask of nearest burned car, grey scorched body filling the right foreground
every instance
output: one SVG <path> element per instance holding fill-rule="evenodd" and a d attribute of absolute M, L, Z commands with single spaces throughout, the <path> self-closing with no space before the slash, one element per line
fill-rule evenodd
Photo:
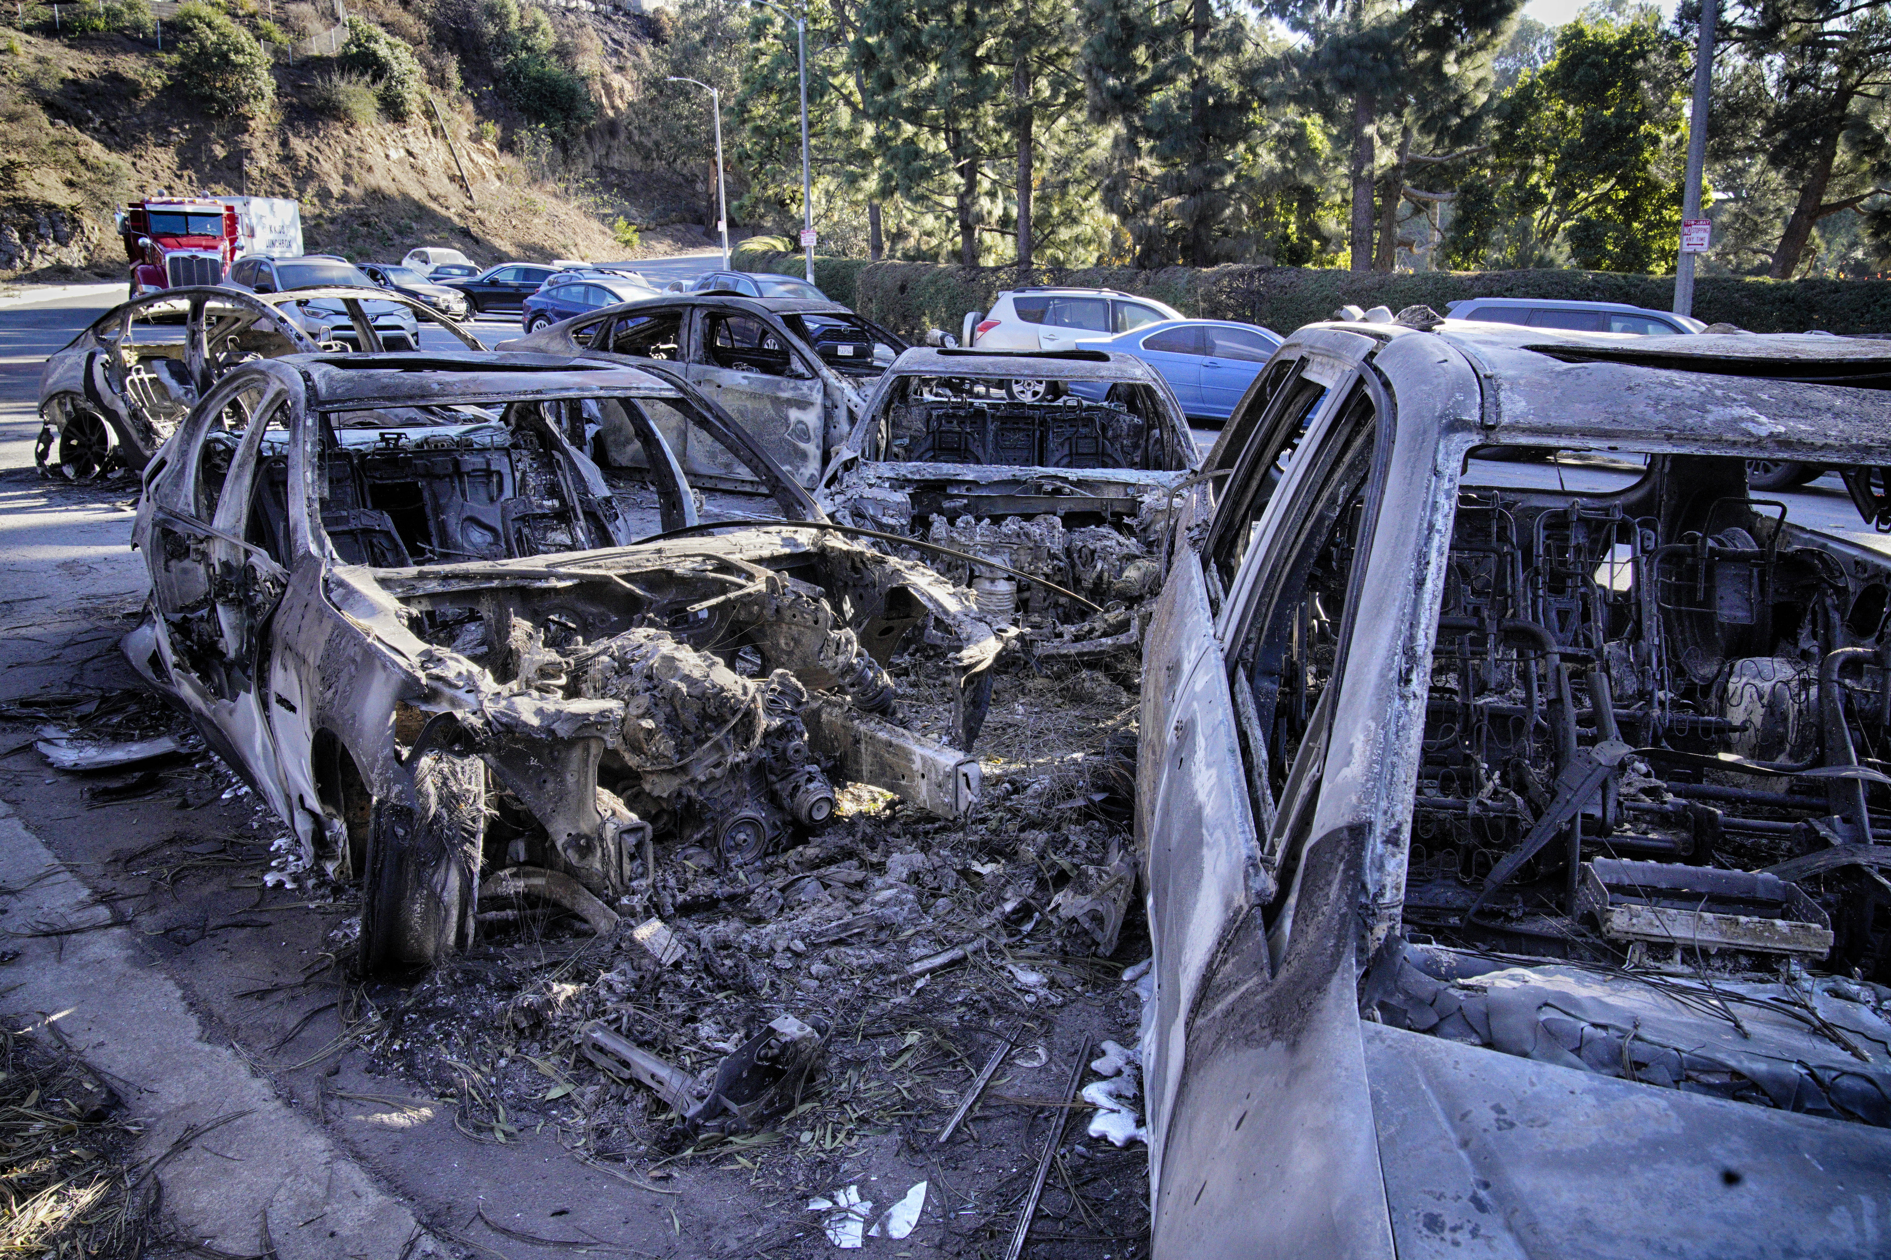
<path fill-rule="evenodd" d="M 1152 1254 L 1885 1254 L 1891 357 L 1405 317 L 1178 521 Z"/>

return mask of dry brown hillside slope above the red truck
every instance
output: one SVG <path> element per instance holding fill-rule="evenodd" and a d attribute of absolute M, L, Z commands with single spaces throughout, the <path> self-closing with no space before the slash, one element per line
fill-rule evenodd
<path fill-rule="evenodd" d="M 121 276 L 112 212 L 155 189 L 295 196 L 310 251 L 363 261 L 416 244 L 452 244 L 480 261 L 624 259 L 707 244 L 694 227 L 620 244 L 609 225 L 626 212 L 635 223 L 637 208 L 596 185 L 573 195 L 581 181 L 552 181 L 562 164 L 590 159 L 588 145 L 573 145 L 564 161 L 548 153 L 507 117 L 490 85 L 461 83 L 454 59 L 425 47 L 425 28 L 412 19 L 403 25 L 420 36 L 429 79 L 444 79 L 427 91 L 471 193 L 431 110 L 405 123 L 323 117 L 312 100 L 335 74 L 333 59 L 278 60 L 274 108 L 253 121 L 219 119 L 172 87 L 170 57 L 151 40 L 49 38 L 34 28 L 32 9 L 26 25 L 0 30 L 0 274 Z M 620 121 L 605 113 L 590 130 L 611 127 Z"/>

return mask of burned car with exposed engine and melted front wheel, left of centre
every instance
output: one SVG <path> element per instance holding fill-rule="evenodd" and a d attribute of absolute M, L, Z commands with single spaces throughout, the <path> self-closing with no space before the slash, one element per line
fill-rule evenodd
<path fill-rule="evenodd" d="M 705 536 L 658 406 L 787 519 Z M 664 536 L 633 542 L 573 444 L 598 416 L 639 434 Z M 306 861 L 361 880 L 369 973 L 465 946 L 482 895 L 609 928 L 660 854 L 753 861 L 828 818 L 836 778 L 944 816 L 978 795 L 974 759 L 891 722 L 885 673 L 930 618 L 976 693 L 1002 640 L 970 597 L 823 523 L 660 366 L 246 365 L 151 461 L 134 546 L 127 654 Z"/>

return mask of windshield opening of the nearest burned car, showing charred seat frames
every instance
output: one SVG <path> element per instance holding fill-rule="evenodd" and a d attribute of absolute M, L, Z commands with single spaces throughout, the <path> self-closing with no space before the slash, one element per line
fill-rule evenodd
<path fill-rule="evenodd" d="M 1853 544 L 1795 523 L 1747 491 L 1740 459 L 1615 463 L 1619 485 L 1592 489 L 1471 484 L 1518 480 L 1471 465 L 1431 656 L 1407 935 L 1596 962 L 1626 950 L 1689 975 L 1830 946 L 1834 969 L 1882 979 L 1891 890 L 1817 858 L 1891 831 L 1891 555 L 1868 527 Z M 1657 920 L 1675 935 L 1647 931 Z"/>

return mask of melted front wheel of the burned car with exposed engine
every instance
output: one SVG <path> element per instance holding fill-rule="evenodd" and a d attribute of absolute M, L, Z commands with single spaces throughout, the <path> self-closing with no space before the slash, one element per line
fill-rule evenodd
<path fill-rule="evenodd" d="M 374 801 L 361 905 L 363 975 L 407 975 L 473 945 L 486 765 L 425 754 L 414 805 Z"/>

